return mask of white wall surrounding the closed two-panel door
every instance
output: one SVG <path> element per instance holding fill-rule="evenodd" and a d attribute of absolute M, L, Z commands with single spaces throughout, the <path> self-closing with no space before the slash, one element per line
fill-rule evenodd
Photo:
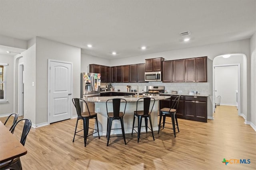
<path fill-rule="evenodd" d="M 36 37 L 36 124 L 48 121 L 48 59 L 73 63 L 72 97 L 80 97 L 81 49 Z M 72 108 L 72 114 L 76 115 Z"/>

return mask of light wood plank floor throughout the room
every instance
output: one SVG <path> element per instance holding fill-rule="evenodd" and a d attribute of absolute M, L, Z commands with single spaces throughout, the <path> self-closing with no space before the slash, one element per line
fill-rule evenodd
<path fill-rule="evenodd" d="M 0 118 L 2 122 L 5 117 Z M 169 118 L 170 119 L 170 118 Z M 90 122 L 93 123 L 93 122 Z M 174 138 L 172 129 L 165 128 L 159 135 L 126 134 L 122 137 L 88 137 L 84 147 L 82 137 L 72 143 L 76 119 L 31 129 L 21 157 L 24 170 L 216 170 L 256 169 L 256 132 L 237 115 L 236 107 L 217 106 L 214 120 L 208 123 L 178 119 L 180 133 Z M 93 125 L 93 124 L 91 124 Z M 166 125 L 171 127 L 170 124 Z M 82 121 L 79 124 L 82 128 Z M 21 131 L 18 127 L 17 135 Z M 18 136 L 17 136 L 18 137 Z M 20 139 L 20 138 L 19 138 Z M 222 163 L 227 159 L 250 159 L 250 164 Z"/>

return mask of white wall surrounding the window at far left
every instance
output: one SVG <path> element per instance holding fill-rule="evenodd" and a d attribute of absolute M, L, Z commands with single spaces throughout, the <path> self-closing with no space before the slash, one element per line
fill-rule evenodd
<path fill-rule="evenodd" d="M 13 113 L 13 56 L 0 54 L 0 63 L 9 64 L 6 67 L 6 99 L 8 102 L 0 103 L 0 117 L 7 113 Z"/>

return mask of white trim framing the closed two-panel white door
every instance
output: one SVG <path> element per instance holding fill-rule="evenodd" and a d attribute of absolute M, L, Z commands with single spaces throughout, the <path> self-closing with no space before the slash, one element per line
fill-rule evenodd
<path fill-rule="evenodd" d="M 58 63 L 66 63 L 66 64 L 71 64 L 71 99 L 73 96 L 73 63 L 68 62 L 68 61 L 60 61 L 60 60 L 53 60 L 53 59 L 48 59 L 48 87 L 47 87 L 47 96 L 48 96 L 48 104 L 47 104 L 47 122 L 48 125 L 50 125 L 50 63 L 51 62 L 58 62 Z M 70 119 L 72 119 L 73 115 L 73 109 L 72 109 L 72 102 L 70 103 L 71 105 L 71 111 L 70 111 Z"/>

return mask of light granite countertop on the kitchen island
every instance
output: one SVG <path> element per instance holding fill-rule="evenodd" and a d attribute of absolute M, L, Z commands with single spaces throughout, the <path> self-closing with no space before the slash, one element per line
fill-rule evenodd
<path fill-rule="evenodd" d="M 139 98 L 143 98 L 146 96 L 140 96 Z M 139 98 L 137 97 L 131 97 L 131 96 L 102 96 L 102 97 L 91 97 L 91 98 L 84 98 L 86 102 L 93 102 L 93 103 L 106 103 L 108 99 L 114 99 L 114 98 L 121 98 L 125 99 L 128 102 L 137 102 Z M 163 100 L 168 99 L 169 96 L 154 96 L 155 100 Z M 142 100 L 143 101 L 143 100 Z"/>

